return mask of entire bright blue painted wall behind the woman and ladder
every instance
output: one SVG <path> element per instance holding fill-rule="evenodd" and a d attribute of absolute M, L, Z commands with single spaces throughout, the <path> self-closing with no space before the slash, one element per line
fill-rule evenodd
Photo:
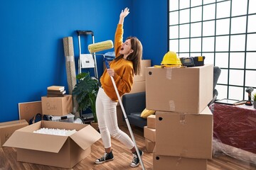
<path fill-rule="evenodd" d="M 167 1 L 153 0 L 1 1 L 0 123 L 18 120 L 18 103 L 41 101 L 47 86 L 68 89 L 63 38 L 73 37 L 78 63 L 75 30 L 93 30 L 95 42 L 114 40 L 119 13 L 126 6 L 131 13 L 124 23 L 124 38 L 137 36 L 144 46 L 144 59 L 159 64 L 167 50 L 166 5 Z M 101 75 L 102 58 L 97 65 Z"/>

